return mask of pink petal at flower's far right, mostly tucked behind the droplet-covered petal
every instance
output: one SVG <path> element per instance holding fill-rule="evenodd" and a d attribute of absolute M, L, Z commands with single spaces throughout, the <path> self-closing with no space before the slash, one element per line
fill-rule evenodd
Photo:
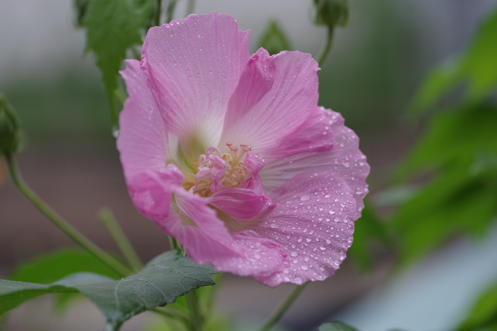
<path fill-rule="evenodd" d="M 343 117 L 331 110 L 322 108 L 322 111 L 325 112 L 331 132 L 336 139 L 336 144 L 331 150 L 323 153 L 302 153 L 268 162 L 259 175 L 264 189 L 270 193 L 289 179 L 308 172 L 310 169 L 316 172 L 333 171 L 346 180 L 352 188 L 359 211 L 356 215 L 357 219 L 364 208 L 363 199 L 369 192 L 366 184 L 369 165 L 366 162 L 366 156 L 359 150 L 359 138 L 343 125 Z"/>

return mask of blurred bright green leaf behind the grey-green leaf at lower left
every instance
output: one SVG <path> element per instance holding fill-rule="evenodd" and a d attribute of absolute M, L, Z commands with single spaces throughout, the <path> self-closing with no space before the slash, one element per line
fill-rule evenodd
<path fill-rule="evenodd" d="M 110 278 L 120 276 L 99 259 L 77 249 L 63 249 L 18 265 L 9 280 L 50 284 L 76 272 L 93 272 Z"/>

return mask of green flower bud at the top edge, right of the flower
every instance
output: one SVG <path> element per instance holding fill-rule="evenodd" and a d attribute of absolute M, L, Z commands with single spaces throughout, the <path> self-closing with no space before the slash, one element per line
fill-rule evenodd
<path fill-rule="evenodd" d="M 314 0 L 317 25 L 344 26 L 348 22 L 348 0 Z"/>

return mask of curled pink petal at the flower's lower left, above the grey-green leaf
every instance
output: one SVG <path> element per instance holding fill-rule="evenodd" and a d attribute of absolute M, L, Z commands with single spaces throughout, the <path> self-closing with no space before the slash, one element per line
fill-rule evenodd
<path fill-rule="evenodd" d="M 253 230 L 230 234 L 215 210 L 197 195 L 178 189 L 174 197 L 177 213 L 158 223 L 185 247 L 192 261 L 241 276 L 267 276 L 283 269 L 284 251 L 273 241 Z M 186 224 L 184 216 L 193 223 Z"/>

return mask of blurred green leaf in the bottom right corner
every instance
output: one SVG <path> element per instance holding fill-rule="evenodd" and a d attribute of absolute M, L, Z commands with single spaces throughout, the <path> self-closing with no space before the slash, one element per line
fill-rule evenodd
<path fill-rule="evenodd" d="M 496 330 L 497 283 L 487 289 L 470 310 L 468 317 L 456 331 Z"/>

